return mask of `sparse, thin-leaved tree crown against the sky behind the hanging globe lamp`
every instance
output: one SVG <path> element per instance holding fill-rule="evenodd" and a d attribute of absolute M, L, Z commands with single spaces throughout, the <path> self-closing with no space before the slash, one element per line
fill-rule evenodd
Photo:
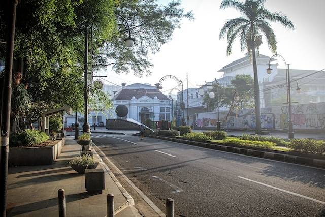
<path fill-rule="evenodd" d="M 179 1 L 172 1 L 161 6 L 155 0 L 120 0 L 115 13 L 118 23 L 118 35 L 111 41 L 105 41 L 105 46 L 99 50 L 95 66 L 111 66 L 116 73 L 133 71 L 136 76 L 150 75 L 153 66 L 148 54 L 159 51 L 161 45 L 167 43 L 175 28 L 180 28 L 183 18 L 193 19 L 191 12 L 184 12 Z M 123 40 L 128 37 L 136 40 L 135 46 L 127 48 Z"/>

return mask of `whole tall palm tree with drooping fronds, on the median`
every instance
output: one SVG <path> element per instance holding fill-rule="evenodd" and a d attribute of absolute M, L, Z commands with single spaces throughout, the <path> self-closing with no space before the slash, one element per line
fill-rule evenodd
<path fill-rule="evenodd" d="M 261 133 L 261 113 L 259 103 L 259 84 L 257 76 L 256 49 L 262 44 L 262 34 L 266 37 L 269 49 L 276 53 L 277 41 L 269 21 L 279 22 L 283 26 L 294 29 L 293 23 L 281 12 L 271 13 L 264 8 L 266 0 L 223 0 L 220 9 L 235 8 L 242 17 L 227 21 L 220 30 L 220 39 L 227 36 L 227 55 L 232 53 L 232 45 L 239 37 L 241 51 L 248 51 L 253 60 L 255 122 L 256 134 Z"/>

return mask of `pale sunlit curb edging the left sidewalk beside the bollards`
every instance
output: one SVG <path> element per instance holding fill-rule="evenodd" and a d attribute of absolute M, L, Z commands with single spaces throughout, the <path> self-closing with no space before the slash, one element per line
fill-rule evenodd
<path fill-rule="evenodd" d="M 98 148 L 94 143 L 92 143 L 92 145 L 95 146 L 96 148 Z M 129 206 L 134 206 L 135 203 L 134 203 L 134 200 L 131 197 L 131 195 L 129 195 L 129 193 L 122 187 L 121 183 L 117 180 L 117 178 L 112 173 L 112 171 L 108 168 L 108 166 L 103 162 L 103 159 L 96 152 L 95 148 L 93 148 L 93 152 L 94 152 L 95 156 L 97 158 L 99 158 L 99 161 L 100 161 L 101 165 L 105 168 L 106 172 L 111 176 L 111 178 L 113 179 L 113 181 L 117 185 L 118 189 L 121 191 L 121 193 L 123 194 L 123 196 L 127 200 L 124 204 L 122 204 L 121 206 L 115 208 L 115 214 L 119 213 L 120 211 L 122 211 L 123 209 L 125 209 L 125 208 L 127 208 Z"/>

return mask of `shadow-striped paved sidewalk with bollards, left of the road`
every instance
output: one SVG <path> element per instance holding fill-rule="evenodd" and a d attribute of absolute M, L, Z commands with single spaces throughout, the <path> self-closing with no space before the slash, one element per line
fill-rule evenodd
<path fill-rule="evenodd" d="M 80 145 L 68 136 L 54 164 L 10 167 L 7 216 L 58 216 L 57 191 L 61 188 L 66 191 L 67 216 L 105 216 L 108 193 L 114 194 L 115 210 L 120 210 L 116 216 L 140 216 L 101 163 L 98 168 L 105 171 L 105 190 L 97 195 L 86 192 L 84 175 L 66 164 L 79 154 Z"/>

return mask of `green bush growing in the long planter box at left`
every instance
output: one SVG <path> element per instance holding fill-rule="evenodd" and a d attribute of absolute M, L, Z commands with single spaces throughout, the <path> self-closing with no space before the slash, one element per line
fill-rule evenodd
<path fill-rule="evenodd" d="M 39 146 L 49 139 L 48 135 L 44 132 L 37 130 L 25 130 L 22 133 L 12 134 L 10 137 L 10 146 L 19 147 L 33 147 Z"/>

